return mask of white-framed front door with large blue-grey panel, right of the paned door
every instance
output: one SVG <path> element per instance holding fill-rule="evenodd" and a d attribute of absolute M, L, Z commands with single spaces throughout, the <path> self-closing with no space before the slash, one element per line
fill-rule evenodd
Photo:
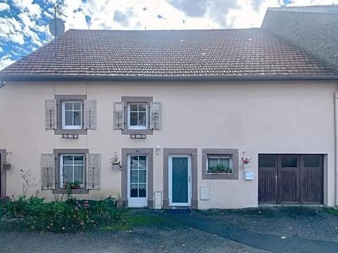
<path fill-rule="evenodd" d="M 192 156 L 168 157 L 169 205 L 189 207 L 192 203 Z"/>

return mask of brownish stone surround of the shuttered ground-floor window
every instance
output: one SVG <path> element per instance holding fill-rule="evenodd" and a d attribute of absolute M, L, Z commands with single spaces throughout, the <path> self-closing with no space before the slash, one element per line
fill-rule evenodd
<path fill-rule="evenodd" d="M 73 148 L 65 148 L 65 149 L 54 149 L 53 153 L 55 155 L 55 181 L 56 186 L 55 190 L 53 190 L 54 194 L 67 194 L 67 190 L 60 188 L 60 155 L 67 154 L 81 154 L 86 155 L 89 153 L 88 149 L 73 149 Z M 86 187 L 87 181 L 87 164 L 86 157 L 84 157 L 84 188 L 81 189 L 72 189 L 72 194 L 89 194 L 89 190 Z"/>

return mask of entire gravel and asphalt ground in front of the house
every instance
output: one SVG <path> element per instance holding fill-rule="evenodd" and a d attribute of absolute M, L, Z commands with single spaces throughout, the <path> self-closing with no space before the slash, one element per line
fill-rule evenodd
<path fill-rule="evenodd" d="M 144 212 L 165 219 L 132 231 L 53 234 L 0 228 L 0 252 L 338 252 L 338 216 L 323 208 Z"/>

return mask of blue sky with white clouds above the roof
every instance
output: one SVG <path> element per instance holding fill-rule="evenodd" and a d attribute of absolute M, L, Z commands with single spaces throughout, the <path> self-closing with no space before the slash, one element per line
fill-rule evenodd
<path fill-rule="evenodd" d="M 163 30 L 260 27 L 268 7 L 338 0 L 58 0 L 68 29 Z M 54 39 L 56 0 L 0 0 L 0 70 Z"/>

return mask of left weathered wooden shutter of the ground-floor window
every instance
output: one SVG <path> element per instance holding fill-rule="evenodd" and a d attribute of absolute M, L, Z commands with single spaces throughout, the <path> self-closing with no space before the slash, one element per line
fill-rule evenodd
<path fill-rule="evenodd" d="M 55 160 L 54 154 L 41 155 L 41 186 L 42 190 L 55 189 Z"/>

